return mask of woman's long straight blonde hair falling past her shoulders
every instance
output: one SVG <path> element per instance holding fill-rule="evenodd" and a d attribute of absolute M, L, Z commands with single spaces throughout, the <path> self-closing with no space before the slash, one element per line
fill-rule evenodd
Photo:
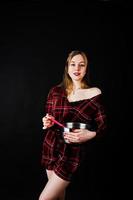
<path fill-rule="evenodd" d="M 66 90 L 67 95 L 69 95 L 73 90 L 73 82 L 72 82 L 71 77 L 68 74 L 68 66 L 69 66 L 72 58 L 74 56 L 76 56 L 76 55 L 79 55 L 79 54 L 83 57 L 83 59 L 85 61 L 85 65 L 86 65 L 86 74 L 85 74 L 85 76 L 83 77 L 83 79 L 81 81 L 81 88 L 83 88 L 83 89 L 89 88 L 88 58 L 87 58 L 87 55 L 83 51 L 74 50 L 74 51 L 71 51 L 69 53 L 69 55 L 68 55 L 68 58 L 67 58 L 66 64 L 65 64 L 63 80 L 62 80 L 62 83 L 60 84 Z"/>

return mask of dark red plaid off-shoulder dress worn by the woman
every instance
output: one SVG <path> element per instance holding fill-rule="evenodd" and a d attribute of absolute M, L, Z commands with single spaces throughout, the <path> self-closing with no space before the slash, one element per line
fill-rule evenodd
<path fill-rule="evenodd" d="M 62 124 L 65 122 L 97 124 L 96 137 L 103 134 L 106 127 L 106 115 L 102 104 L 102 95 L 90 99 L 69 102 L 66 92 L 60 86 L 53 87 L 47 97 L 45 112 L 54 116 Z M 67 144 L 58 125 L 44 130 L 41 163 L 46 169 L 54 172 L 62 179 L 70 181 L 85 156 L 82 144 Z"/>

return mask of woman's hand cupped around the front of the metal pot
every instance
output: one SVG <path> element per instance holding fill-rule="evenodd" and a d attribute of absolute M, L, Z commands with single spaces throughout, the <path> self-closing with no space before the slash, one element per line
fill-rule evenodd
<path fill-rule="evenodd" d="M 64 139 L 68 143 L 83 143 L 95 136 L 95 131 L 89 131 L 87 129 L 74 129 L 72 132 L 64 133 Z"/>

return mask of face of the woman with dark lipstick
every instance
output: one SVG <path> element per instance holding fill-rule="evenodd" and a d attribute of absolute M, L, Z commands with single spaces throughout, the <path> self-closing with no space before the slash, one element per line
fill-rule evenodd
<path fill-rule="evenodd" d="M 82 55 L 74 56 L 68 65 L 68 74 L 72 81 L 81 81 L 86 73 L 86 63 Z"/>

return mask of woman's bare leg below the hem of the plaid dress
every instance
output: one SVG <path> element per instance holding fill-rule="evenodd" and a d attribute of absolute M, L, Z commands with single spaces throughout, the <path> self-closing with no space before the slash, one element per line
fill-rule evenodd
<path fill-rule="evenodd" d="M 47 171 L 49 180 L 39 200 L 64 200 L 65 189 L 70 183 L 58 177 L 53 171 Z"/>

